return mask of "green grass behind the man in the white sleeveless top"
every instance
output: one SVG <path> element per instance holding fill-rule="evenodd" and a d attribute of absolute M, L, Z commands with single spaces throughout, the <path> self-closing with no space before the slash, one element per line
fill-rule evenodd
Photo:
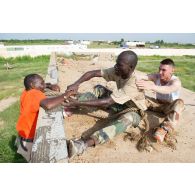
<path fill-rule="evenodd" d="M 152 73 L 157 72 L 159 63 L 165 56 L 139 56 L 137 69 Z M 179 76 L 182 86 L 195 91 L 195 56 L 170 56 L 176 64 L 175 75 Z"/>

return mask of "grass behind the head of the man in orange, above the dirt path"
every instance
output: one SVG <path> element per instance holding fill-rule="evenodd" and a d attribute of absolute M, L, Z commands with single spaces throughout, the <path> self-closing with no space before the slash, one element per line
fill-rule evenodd
<path fill-rule="evenodd" d="M 6 70 L 5 63 L 12 64 L 13 69 Z M 27 74 L 37 73 L 45 77 L 49 56 L 38 57 L 0 57 L 0 100 L 9 96 L 19 96 L 23 90 L 23 79 Z"/>

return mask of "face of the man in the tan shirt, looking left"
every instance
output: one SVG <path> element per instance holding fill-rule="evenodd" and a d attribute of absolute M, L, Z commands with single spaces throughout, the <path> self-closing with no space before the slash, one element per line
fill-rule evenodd
<path fill-rule="evenodd" d="M 121 76 L 123 79 L 127 79 L 134 71 L 133 66 L 130 66 L 125 59 L 117 59 L 114 69 L 116 75 Z"/>

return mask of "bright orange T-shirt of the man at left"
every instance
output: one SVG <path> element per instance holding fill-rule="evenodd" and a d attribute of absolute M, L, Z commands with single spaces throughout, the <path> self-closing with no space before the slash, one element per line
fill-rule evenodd
<path fill-rule="evenodd" d="M 45 94 L 37 89 L 23 91 L 20 97 L 20 115 L 16 125 L 21 137 L 34 138 L 40 102 L 45 98 Z"/>

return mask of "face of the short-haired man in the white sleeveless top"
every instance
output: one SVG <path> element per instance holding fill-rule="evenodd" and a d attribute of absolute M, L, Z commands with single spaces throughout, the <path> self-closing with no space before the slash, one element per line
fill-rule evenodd
<path fill-rule="evenodd" d="M 161 80 L 169 81 L 171 79 L 173 72 L 174 72 L 173 66 L 166 65 L 166 64 L 160 64 L 159 74 L 160 74 Z"/>

